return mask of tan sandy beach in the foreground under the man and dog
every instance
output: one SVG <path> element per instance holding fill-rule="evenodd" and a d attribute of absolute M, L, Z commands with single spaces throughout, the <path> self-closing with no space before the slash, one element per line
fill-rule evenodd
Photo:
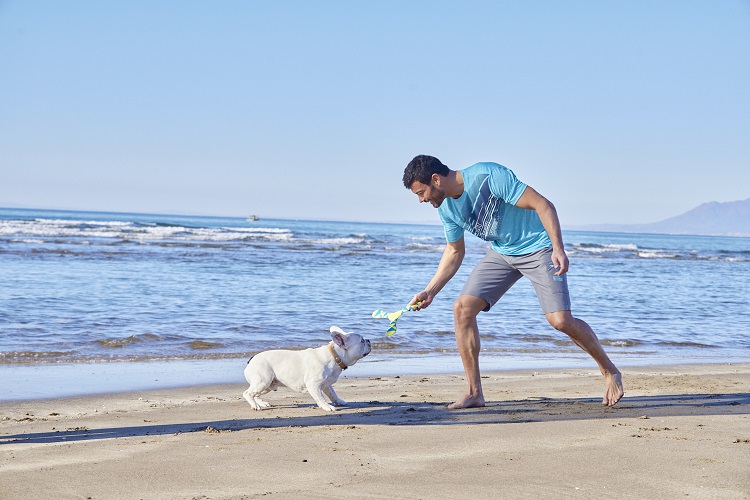
<path fill-rule="evenodd" d="M 356 370 L 351 370 L 355 372 Z M 750 498 L 750 364 L 356 377 L 0 403 L 0 498 Z"/>

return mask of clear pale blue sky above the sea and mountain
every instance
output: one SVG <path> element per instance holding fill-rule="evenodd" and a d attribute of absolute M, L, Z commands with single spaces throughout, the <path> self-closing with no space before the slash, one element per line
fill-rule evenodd
<path fill-rule="evenodd" d="M 435 222 L 416 154 L 563 225 L 750 198 L 750 2 L 0 0 L 0 206 Z"/>

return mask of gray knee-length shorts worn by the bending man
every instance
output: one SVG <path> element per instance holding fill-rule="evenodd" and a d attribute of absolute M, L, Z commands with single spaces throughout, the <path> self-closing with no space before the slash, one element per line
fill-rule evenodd
<path fill-rule="evenodd" d="M 461 294 L 484 299 L 489 311 L 521 276 L 534 284 L 544 314 L 570 310 L 567 274 L 555 276 L 552 249 L 526 255 L 502 255 L 489 249 L 466 280 Z"/>

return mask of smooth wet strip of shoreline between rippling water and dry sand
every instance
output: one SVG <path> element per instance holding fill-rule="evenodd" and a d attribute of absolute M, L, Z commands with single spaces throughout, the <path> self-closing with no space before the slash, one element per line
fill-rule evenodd
<path fill-rule="evenodd" d="M 745 357 L 715 356 L 681 358 L 679 363 L 666 353 L 650 356 L 621 356 L 619 368 L 679 365 L 746 363 Z M 245 383 L 245 358 L 108 361 L 77 363 L 0 364 L 0 379 L 5 402 L 79 397 L 140 390 L 177 389 L 190 386 Z M 480 356 L 482 373 L 514 370 L 596 369 L 584 353 L 548 353 L 530 355 L 512 353 L 505 356 Z M 461 374 L 463 366 L 458 353 L 428 355 L 390 355 L 368 357 L 342 374 L 346 377 L 393 375 Z"/>

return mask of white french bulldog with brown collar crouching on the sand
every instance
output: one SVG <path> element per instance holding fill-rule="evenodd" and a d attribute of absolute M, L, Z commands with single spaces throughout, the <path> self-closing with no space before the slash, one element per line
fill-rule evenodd
<path fill-rule="evenodd" d="M 271 405 L 259 396 L 286 386 L 299 392 L 307 390 L 325 411 L 335 411 L 336 406 L 345 405 L 334 392 L 333 384 L 343 370 L 370 354 L 370 341 L 337 326 L 331 327 L 331 339 L 327 345 L 303 351 L 274 349 L 256 354 L 245 367 L 245 379 L 250 387 L 243 397 L 256 410 L 268 408 Z"/>

